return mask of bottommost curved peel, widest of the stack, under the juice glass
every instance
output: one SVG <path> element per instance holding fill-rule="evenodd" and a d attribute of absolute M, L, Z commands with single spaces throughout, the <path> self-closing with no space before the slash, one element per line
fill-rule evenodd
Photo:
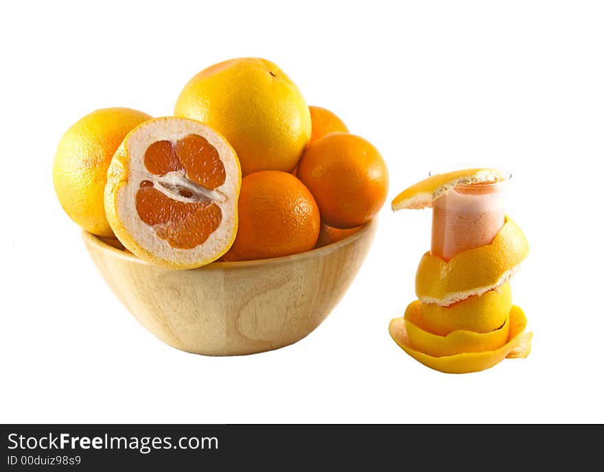
<path fill-rule="evenodd" d="M 526 332 L 526 316 L 517 305 L 509 312 L 509 336 L 507 342 L 492 351 L 459 353 L 434 356 L 417 350 L 410 342 L 404 317 L 391 320 L 388 331 L 393 340 L 411 357 L 434 370 L 443 373 L 463 374 L 491 368 L 506 357 L 526 357 L 531 352 L 533 333 Z"/>

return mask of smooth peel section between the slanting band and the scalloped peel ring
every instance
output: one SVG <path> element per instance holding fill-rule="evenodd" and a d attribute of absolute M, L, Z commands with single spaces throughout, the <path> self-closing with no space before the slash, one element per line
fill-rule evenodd
<path fill-rule="evenodd" d="M 512 307 L 510 283 L 482 295 L 474 295 L 465 300 L 443 307 L 437 303 L 421 303 L 423 327 L 441 336 L 458 329 L 489 333 L 501 327 Z"/>

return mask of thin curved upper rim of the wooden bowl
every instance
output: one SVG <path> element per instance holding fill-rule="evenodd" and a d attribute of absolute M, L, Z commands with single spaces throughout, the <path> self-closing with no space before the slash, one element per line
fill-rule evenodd
<path fill-rule="evenodd" d="M 344 239 L 340 239 L 340 241 L 336 241 L 332 244 L 327 244 L 327 246 L 323 246 L 321 248 L 315 248 L 315 249 L 307 250 L 305 252 L 299 252 L 298 254 L 292 254 L 290 256 L 271 257 L 269 259 L 255 259 L 253 261 L 213 261 L 213 262 L 207 264 L 206 266 L 201 266 L 201 267 L 194 268 L 194 269 L 170 269 L 170 268 L 165 268 L 165 269 L 167 269 L 167 270 L 220 270 L 220 269 L 229 269 L 229 268 L 249 268 L 249 267 L 255 267 L 255 266 L 264 266 L 265 264 L 269 264 L 269 263 L 270 264 L 275 264 L 275 263 L 279 264 L 279 263 L 290 263 L 293 261 L 302 261 L 304 259 L 317 257 L 319 255 L 327 255 L 331 252 L 334 252 L 334 251 L 342 248 L 342 246 L 347 246 L 348 244 L 351 244 L 351 242 L 356 241 L 357 239 L 360 239 L 360 237 L 363 237 L 370 231 L 373 231 L 373 229 L 376 226 L 377 226 L 377 216 L 373 217 L 373 220 L 365 223 L 362 226 L 362 228 L 360 228 L 359 231 L 356 231 L 355 233 L 345 237 Z M 154 267 L 163 268 L 163 266 L 157 266 L 156 264 L 139 259 L 135 255 L 133 255 L 132 252 L 126 252 L 124 250 L 115 248 L 115 247 L 111 246 L 111 244 L 108 244 L 105 241 L 103 241 L 103 239 L 101 239 L 101 237 L 99 237 L 97 235 L 93 235 L 93 233 L 89 233 L 88 231 L 86 231 L 84 229 L 82 230 L 82 239 L 84 239 L 85 241 L 89 241 L 90 244 L 93 244 L 94 246 L 101 248 L 104 252 L 111 252 L 111 253 L 113 253 L 114 256 L 119 257 L 121 259 L 127 259 L 131 263 L 139 263 L 139 264 L 142 264 L 145 266 L 154 266 Z"/>

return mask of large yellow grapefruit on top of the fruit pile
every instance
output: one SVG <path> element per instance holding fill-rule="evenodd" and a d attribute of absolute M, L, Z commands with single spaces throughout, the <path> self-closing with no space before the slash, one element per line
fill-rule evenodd
<path fill-rule="evenodd" d="M 231 59 L 201 71 L 183 88 L 174 115 L 197 119 L 227 138 L 243 175 L 292 172 L 308 144 L 310 110 L 276 64 Z"/>

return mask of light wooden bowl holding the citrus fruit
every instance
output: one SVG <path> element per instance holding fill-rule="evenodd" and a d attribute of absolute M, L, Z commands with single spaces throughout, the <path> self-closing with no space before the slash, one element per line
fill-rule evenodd
<path fill-rule="evenodd" d="M 157 338 L 190 353 L 242 355 L 288 346 L 318 327 L 356 276 L 376 228 L 373 220 L 297 255 L 192 270 L 154 266 L 82 236 L 111 290 Z"/>

